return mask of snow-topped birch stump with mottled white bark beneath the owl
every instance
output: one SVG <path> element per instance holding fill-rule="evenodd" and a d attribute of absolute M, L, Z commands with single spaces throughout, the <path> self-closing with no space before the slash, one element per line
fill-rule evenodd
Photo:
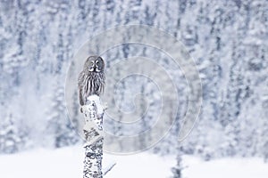
<path fill-rule="evenodd" d="M 102 178 L 104 108 L 99 96 L 90 95 L 81 111 L 85 117 L 83 131 L 86 139 L 83 178 Z"/>

